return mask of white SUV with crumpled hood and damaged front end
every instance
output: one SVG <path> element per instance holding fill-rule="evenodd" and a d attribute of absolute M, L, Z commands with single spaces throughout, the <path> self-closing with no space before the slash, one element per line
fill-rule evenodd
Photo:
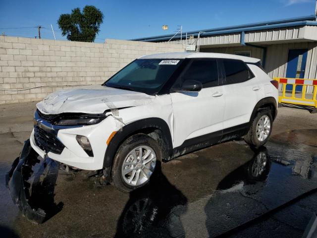
<path fill-rule="evenodd" d="M 103 85 L 57 91 L 38 103 L 30 143 L 43 158 L 99 171 L 131 191 L 149 182 L 160 161 L 241 136 L 263 145 L 277 86 L 254 58 L 143 56 Z"/>

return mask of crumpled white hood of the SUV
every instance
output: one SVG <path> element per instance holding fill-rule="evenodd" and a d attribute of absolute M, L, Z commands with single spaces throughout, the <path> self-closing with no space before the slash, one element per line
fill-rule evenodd
<path fill-rule="evenodd" d="M 44 114 L 101 114 L 108 109 L 120 109 L 149 104 L 155 96 L 145 93 L 109 88 L 102 85 L 56 91 L 36 106 Z"/>

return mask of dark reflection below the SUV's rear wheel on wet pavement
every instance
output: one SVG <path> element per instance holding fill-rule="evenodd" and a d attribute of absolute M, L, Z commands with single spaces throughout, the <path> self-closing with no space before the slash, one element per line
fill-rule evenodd
<path fill-rule="evenodd" d="M 254 149 L 250 161 L 219 182 L 205 207 L 206 228 L 210 237 L 224 234 L 242 225 L 241 221 L 254 218 L 252 214 L 257 217 L 268 210 L 264 203 L 254 197 L 266 186 L 270 167 L 266 148 Z"/>

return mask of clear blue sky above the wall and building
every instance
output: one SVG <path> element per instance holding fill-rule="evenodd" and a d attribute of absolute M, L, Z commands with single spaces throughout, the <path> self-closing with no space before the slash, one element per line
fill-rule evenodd
<path fill-rule="evenodd" d="M 60 14 L 94 5 L 105 15 L 95 42 L 134 39 L 315 14 L 316 0 L 0 0 L 0 34 L 65 40 Z M 168 30 L 162 30 L 168 25 Z"/>

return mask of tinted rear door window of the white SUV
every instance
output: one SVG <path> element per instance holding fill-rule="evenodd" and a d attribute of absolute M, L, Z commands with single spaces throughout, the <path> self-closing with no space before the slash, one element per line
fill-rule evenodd
<path fill-rule="evenodd" d="M 226 72 L 226 83 L 241 83 L 250 78 L 251 72 L 241 60 L 222 60 Z"/>

